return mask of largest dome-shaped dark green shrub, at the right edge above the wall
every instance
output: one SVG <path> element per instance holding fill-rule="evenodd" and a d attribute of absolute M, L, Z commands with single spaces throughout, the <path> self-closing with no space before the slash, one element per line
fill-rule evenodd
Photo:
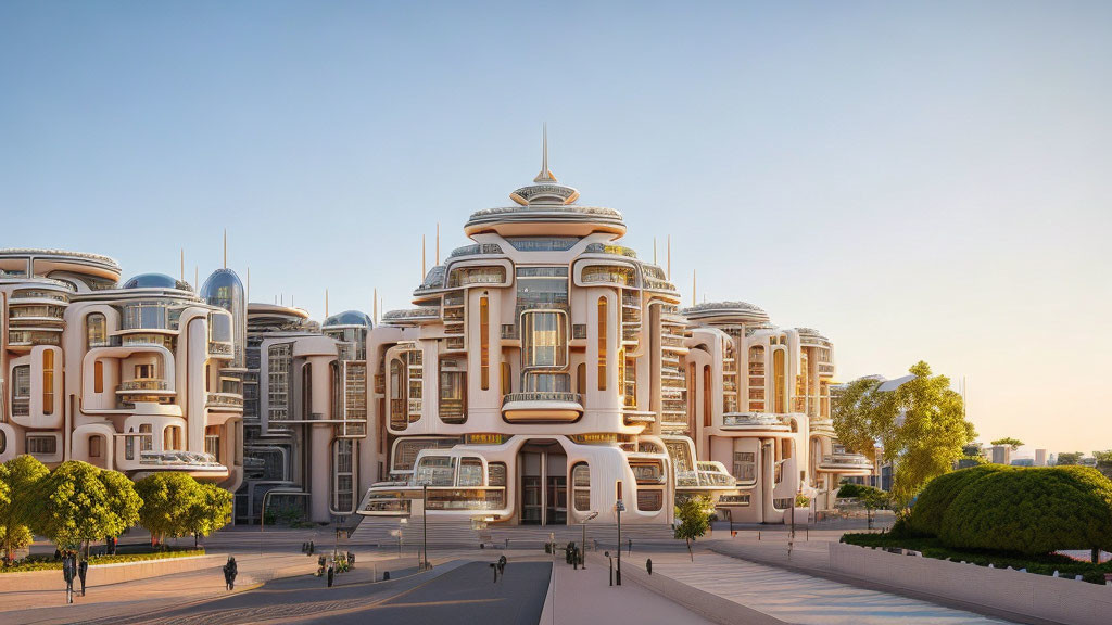
<path fill-rule="evenodd" d="M 971 469 L 965 469 L 971 470 Z M 1112 480 L 1090 467 L 1012 467 L 966 485 L 942 518 L 952 548 L 1112 549 Z"/>

